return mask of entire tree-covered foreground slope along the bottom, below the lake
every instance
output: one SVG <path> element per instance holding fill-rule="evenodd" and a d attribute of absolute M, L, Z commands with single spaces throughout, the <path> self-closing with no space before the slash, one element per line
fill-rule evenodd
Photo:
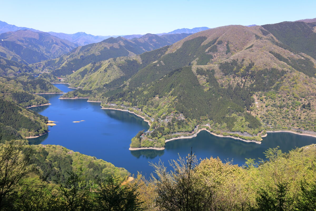
<path fill-rule="evenodd" d="M 243 166 L 219 158 L 151 163 L 155 175 L 137 175 L 62 146 L 0 145 L 3 210 L 314 210 L 316 145 L 264 152 Z M 262 155 L 258 155 L 262 157 Z M 19 171 L 14 171 L 18 169 Z M 171 170 L 171 171 L 170 171 Z M 12 184 L 11 184 L 12 183 Z M 26 197 L 27 196 L 27 197 Z"/>

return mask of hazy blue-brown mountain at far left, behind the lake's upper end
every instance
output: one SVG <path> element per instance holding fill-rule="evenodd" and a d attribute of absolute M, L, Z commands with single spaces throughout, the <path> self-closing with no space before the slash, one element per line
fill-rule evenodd
<path fill-rule="evenodd" d="M 57 58 L 77 46 L 40 31 L 24 29 L 0 34 L 0 56 L 24 64 Z"/>

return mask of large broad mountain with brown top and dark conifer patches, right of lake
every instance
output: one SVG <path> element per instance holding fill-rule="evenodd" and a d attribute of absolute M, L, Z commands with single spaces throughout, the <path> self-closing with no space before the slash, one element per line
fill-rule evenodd
<path fill-rule="evenodd" d="M 163 146 L 168 134 L 206 123 L 214 132 L 256 140 L 265 127 L 315 131 L 316 68 L 307 53 L 261 26 L 219 27 L 84 66 L 68 77 L 81 88 L 64 97 L 88 96 L 147 116 L 155 130 L 133 146 Z"/>

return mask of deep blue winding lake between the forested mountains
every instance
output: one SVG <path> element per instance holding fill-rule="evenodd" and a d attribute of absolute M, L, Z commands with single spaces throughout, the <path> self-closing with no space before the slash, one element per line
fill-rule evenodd
<path fill-rule="evenodd" d="M 63 92 L 73 90 L 68 88 L 67 84 L 54 85 Z M 283 152 L 288 152 L 295 147 L 316 143 L 314 137 L 294 133 L 268 133 L 262 144 L 256 144 L 221 138 L 202 131 L 192 139 L 167 142 L 165 150 L 130 151 L 128 148 L 131 138 L 138 131 L 149 128 L 140 117 L 124 111 L 100 109 L 100 103 L 87 102 L 87 99 L 61 100 L 58 99 L 61 94 L 41 96 L 52 105 L 33 107 L 32 110 L 57 122 L 55 126 L 49 126 L 49 133 L 29 139 L 31 144 L 61 145 L 75 152 L 111 162 L 132 174 L 142 172 L 147 177 L 153 171 L 149 162 L 157 163 L 161 159 L 168 164 L 168 160 L 179 157 L 178 153 L 185 157 L 190 153 L 191 147 L 198 158 L 213 156 L 223 161 L 233 160 L 234 164 L 242 165 L 245 158 L 264 158 L 263 152 L 268 148 L 280 146 Z"/>

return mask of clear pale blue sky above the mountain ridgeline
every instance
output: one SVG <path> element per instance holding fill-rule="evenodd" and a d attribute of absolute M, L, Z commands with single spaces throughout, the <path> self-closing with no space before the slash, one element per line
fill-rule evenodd
<path fill-rule="evenodd" d="M 314 0 L 3 0 L 0 20 L 68 34 L 155 34 L 178 28 L 263 25 L 315 18 L 315 8 Z"/>

